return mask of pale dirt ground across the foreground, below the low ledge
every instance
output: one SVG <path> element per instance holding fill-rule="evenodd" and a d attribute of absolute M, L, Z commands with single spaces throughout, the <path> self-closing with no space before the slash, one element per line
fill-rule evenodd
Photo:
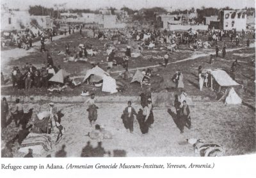
<path fill-rule="evenodd" d="M 140 106 L 133 103 L 133 107 L 138 112 Z M 198 156 L 193 151 L 193 145 L 186 144 L 187 138 L 201 138 L 206 142 L 215 142 L 226 150 L 225 156 L 237 154 L 250 154 L 255 152 L 255 116 L 254 111 L 246 106 L 225 106 L 221 102 L 195 102 L 191 107 L 192 128 L 180 130 L 173 122 L 173 117 L 168 114 L 167 108 L 154 108 L 154 126 L 150 128 L 148 134 L 141 136 L 138 121 L 134 121 L 134 133 L 128 133 L 122 119 L 122 110 L 126 103 L 97 103 L 99 107 L 96 124 L 100 124 L 113 134 L 113 139 L 104 140 L 102 147 L 106 152 L 118 149 L 125 151 L 126 156 Z M 26 110 L 35 108 L 35 113 L 39 108 L 46 110 L 48 105 L 26 104 Z M 68 157 L 79 157 L 81 150 L 90 141 L 93 147 L 97 146 L 97 140 L 92 140 L 86 136 L 93 128 L 88 121 L 88 112 L 81 103 L 57 104 L 58 110 L 64 116 L 61 124 L 65 127 L 63 138 L 55 144 L 52 140 L 52 151 L 44 152 L 45 157 L 51 154 L 54 157 L 56 151 L 61 149 L 61 145 L 66 145 Z M 171 107 L 171 110 L 175 108 Z M 13 123 L 6 128 L 12 129 Z M 3 130 L 2 139 L 15 136 L 15 128 L 11 133 Z M 12 134 L 13 133 L 13 134 Z M 17 152 L 17 144 L 13 147 L 14 156 L 21 157 L 24 154 Z"/>

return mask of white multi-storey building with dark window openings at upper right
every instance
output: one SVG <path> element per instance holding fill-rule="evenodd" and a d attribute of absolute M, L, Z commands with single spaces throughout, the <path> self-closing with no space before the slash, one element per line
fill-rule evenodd
<path fill-rule="evenodd" d="M 224 30 L 236 29 L 236 31 L 246 30 L 245 10 L 223 10 L 220 13 L 220 26 Z"/>

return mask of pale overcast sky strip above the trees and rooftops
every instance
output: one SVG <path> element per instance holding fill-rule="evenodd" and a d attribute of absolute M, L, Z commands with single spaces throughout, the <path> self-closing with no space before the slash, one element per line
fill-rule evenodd
<path fill-rule="evenodd" d="M 9 8 L 19 8 L 20 10 L 28 9 L 29 5 L 42 5 L 52 7 L 53 4 L 67 3 L 67 8 L 104 8 L 113 6 L 117 9 L 127 6 L 132 9 L 151 8 L 154 6 L 177 8 L 200 8 L 214 7 L 223 8 L 244 8 L 255 7 L 255 0 L 1 0 L 1 4 L 6 3 Z"/>

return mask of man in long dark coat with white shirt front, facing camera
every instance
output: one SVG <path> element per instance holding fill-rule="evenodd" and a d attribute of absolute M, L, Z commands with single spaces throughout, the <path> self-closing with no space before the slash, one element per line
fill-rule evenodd
<path fill-rule="evenodd" d="M 137 115 L 136 111 L 133 107 L 131 107 L 132 102 L 128 101 L 128 107 L 126 107 L 122 114 L 122 120 L 124 123 L 125 129 L 128 131 L 130 130 L 130 133 L 133 132 L 133 121 L 134 121 L 134 115 Z"/>

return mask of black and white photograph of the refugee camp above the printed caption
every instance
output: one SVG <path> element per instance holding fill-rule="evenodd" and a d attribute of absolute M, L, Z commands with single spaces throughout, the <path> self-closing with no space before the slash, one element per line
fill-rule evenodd
<path fill-rule="evenodd" d="M 255 154 L 255 82 L 255 0 L 1 1 L 1 158 Z"/>

